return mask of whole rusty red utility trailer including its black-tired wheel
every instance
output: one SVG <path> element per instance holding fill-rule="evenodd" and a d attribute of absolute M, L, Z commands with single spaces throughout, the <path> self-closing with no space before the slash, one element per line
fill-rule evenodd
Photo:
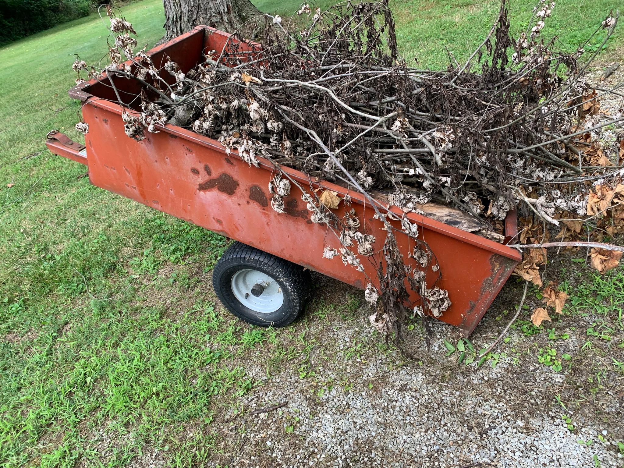
<path fill-rule="evenodd" d="M 227 47 L 232 42 L 228 37 L 225 32 L 198 26 L 149 54 L 159 68 L 168 56 L 187 72 L 203 62 L 207 51 Z M 133 80 L 113 79 L 122 101 L 127 98 L 129 103 L 139 93 Z M 303 310 L 310 281 L 307 270 L 360 289 L 366 288 L 367 278 L 376 281 L 385 233 L 361 193 L 283 167 L 305 190 L 326 188 L 339 197 L 350 195 L 351 208 L 364 230 L 376 237 L 376 253 L 365 258 L 371 261 L 362 261 L 364 271 L 359 272 L 343 265 L 339 257 L 323 257 L 326 246 L 338 249 L 341 245 L 325 225 L 311 222 L 312 213 L 301 201 L 298 188 L 293 187 L 285 197 L 285 213 L 270 207 L 268 183 L 275 175 L 271 162 L 260 157 L 260 168 L 250 167 L 235 152 L 228 155 L 216 140 L 170 124 L 142 141 L 130 139 L 124 133 L 122 109 L 106 80 L 90 80 L 69 92 L 82 101 L 83 119 L 89 124 L 85 145 L 53 131 L 47 136 L 47 147 L 85 164 L 90 183 L 97 187 L 238 241 L 213 273 L 215 290 L 230 311 L 251 323 L 283 326 Z M 376 199 L 388 207 L 386 211 L 401 214 L 399 208 L 389 206 L 383 193 Z M 476 235 L 482 225 L 460 210 L 434 203 L 422 205 L 422 210 L 424 215 L 407 213 L 407 217 L 419 226 L 419 238 L 436 256 L 441 273 L 437 285 L 448 291 L 452 302 L 439 319 L 469 336 L 522 256 L 509 246 Z M 334 211 L 341 216 L 344 210 Z M 399 223 L 396 227 L 400 228 Z M 507 218 L 505 228 L 507 236 L 515 235 L 515 213 Z M 404 260 L 414 261 L 409 256 L 414 241 L 397 233 L 397 244 Z M 429 268 L 427 280 L 435 281 L 439 273 Z M 410 300 L 415 305 L 419 297 L 412 291 Z"/>

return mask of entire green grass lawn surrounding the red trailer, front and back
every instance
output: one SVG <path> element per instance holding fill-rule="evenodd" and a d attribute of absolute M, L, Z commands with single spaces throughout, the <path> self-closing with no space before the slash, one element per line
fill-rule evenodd
<path fill-rule="evenodd" d="M 275 2 L 257 4 L 283 16 L 298 6 L 282 2 L 282 13 Z M 497 10 L 494 1 L 392 6 L 402 51 L 431 67 L 445 66 L 445 47 L 465 56 Z M 574 47 L 615 6 L 565 0 L 548 27 Z M 514 2 L 515 27 L 531 7 Z M 124 15 L 140 44 L 162 36 L 160 0 L 130 4 Z M 305 320 L 267 331 L 217 310 L 210 270 L 224 238 L 92 187 L 82 165 L 47 152 L 49 130 L 80 139 L 79 103 L 67 97 L 71 64 L 74 54 L 100 59 L 106 35 L 92 15 L 0 49 L 1 467 L 126 466 L 145 446 L 168 447 L 178 466 L 200 464 L 217 450 L 213 398 L 235 406 L 255 384 L 248 356 L 267 346 L 266 362 L 277 365 L 311 346 L 301 338 Z M 588 275 L 582 291 L 617 290 L 622 273 L 601 281 Z M 348 318 L 358 300 L 315 303 L 311 314 Z M 189 426 L 205 430 L 180 437 Z M 117 441 L 105 454 L 89 442 L 99 429 Z"/>

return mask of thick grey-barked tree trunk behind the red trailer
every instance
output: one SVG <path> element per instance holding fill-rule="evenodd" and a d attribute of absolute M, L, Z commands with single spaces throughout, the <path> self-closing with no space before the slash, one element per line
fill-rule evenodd
<path fill-rule="evenodd" d="M 173 39 L 195 26 L 205 24 L 226 32 L 238 31 L 260 12 L 250 0 L 163 0 L 165 36 Z"/>

